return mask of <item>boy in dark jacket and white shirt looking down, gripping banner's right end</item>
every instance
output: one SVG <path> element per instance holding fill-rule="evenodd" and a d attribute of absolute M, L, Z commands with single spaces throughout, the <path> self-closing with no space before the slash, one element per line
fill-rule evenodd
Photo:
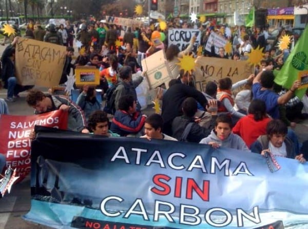
<path fill-rule="evenodd" d="M 306 160 L 303 154 L 298 154 L 294 148 L 294 144 L 287 136 L 287 126 L 280 119 L 274 119 L 268 122 L 266 127 L 266 135 L 261 135 L 251 145 L 251 151 L 265 155 L 267 152 L 274 156 L 287 157 L 297 159 L 301 163 Z"/>

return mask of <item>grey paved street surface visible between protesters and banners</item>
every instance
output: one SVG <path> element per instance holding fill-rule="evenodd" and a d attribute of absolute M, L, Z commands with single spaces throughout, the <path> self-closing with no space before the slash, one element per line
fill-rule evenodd
<path fill-rule="evenodd" d="M 0 54 L 2 54 L 4 47 L 0 46 Z M 40 88 L 47 91 L 46 88 Z M 10 113 L 12 115 L 31 115 L 33 109 L 29 108 L 25 101 L 26 93 L 20 94 L 21 97 L 16 102 L 8 103 Z M 6 97 L 6 90 L 0 90 L 0 97 Z M 145 113 L 151 113 L 153 109 L 148 107 Z M 1 130 L 1 127 L 0 127 Z M 300 141 L 308 139 L 308 120 L 297 124 L 295 128 Z M 27 222 L 21 218 L 30 210 L 30 178 L 29 176 L 21 183 L 13 186 L 10 194 L 6 194 L 4 198 L 0 199 L 0 229 L 36 229 L 36 228 L 50 228 L 38 224 Z"/>

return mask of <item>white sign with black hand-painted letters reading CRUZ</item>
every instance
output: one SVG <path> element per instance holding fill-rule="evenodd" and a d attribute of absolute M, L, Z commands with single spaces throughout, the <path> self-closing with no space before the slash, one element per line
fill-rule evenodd
<path fill-rule="evenodd" d="M 199 29 L 169 29 L 168 45 L 176 45 L 179 47 L 180 51 L 184 51 L 190 44 L 190 40 L 194 35 L 197 36 L 197 39 L 192 51 L 197 54 L 197 49 L 201 43 L 201 32 Z"/>

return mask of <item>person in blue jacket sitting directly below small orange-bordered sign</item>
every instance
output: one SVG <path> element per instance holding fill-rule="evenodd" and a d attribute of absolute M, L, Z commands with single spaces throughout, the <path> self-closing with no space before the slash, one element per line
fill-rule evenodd
<path fill-rule="evenodd" d="M 102 109 L 102 105 L 97 100 L 96 94 L 95 87 L 85 85 L 76 100 L 76 104 L 84 111 L 87 120 L 93 111 Z"/>

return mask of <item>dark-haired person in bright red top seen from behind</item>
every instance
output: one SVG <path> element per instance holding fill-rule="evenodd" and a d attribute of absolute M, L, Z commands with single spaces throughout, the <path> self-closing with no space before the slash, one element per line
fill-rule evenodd
<path fill-rule="evenodd" d="M 232 132 L 239 135 L 249 148 L 260 135 L 266 133 L 267 123 L 271 120 L 266 114 L 264 101 L 254 99 L 249 105 L 248 115 L 235 124 Z"/>

